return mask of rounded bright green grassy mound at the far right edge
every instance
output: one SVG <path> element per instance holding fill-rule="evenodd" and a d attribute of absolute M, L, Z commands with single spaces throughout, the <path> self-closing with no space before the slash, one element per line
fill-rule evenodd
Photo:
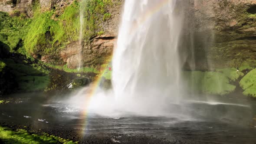
<path fill-rule="evenodd" d="M 244 90 L 244 95 L 256 97 L 256 69 L 251 70 L 245 75 L 239 84 Z"/>

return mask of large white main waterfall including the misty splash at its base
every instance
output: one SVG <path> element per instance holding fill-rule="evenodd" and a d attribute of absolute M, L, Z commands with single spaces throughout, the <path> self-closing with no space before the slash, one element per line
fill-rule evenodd
<path fill-rule="evenodd" d="M 166 115 L 175 109 L 182 95 L 178 46 L 183 17 L 175 0 L 125 1 L 112 59 L 113 89 L 92 95 L 90 111 Z"/>

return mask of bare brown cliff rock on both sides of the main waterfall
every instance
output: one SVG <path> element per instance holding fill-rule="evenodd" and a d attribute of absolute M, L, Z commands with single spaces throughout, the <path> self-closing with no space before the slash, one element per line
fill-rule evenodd
<path fill-rule="evenodd" d="M 73 1 L 39 0 L 39 3 L 42 11 L 56 10 L 56 14 L 61 15 L 64 8 Z M 124 0 L 112 1 L 124 3 Z M 28 7 L 33 2 L 34 0 L 17 0 L 16 3 L 14 0 L 0 0 L 0 10 L 9 13 L 20 10 L 31 16 Z M 184 29 L 181 40 L 184 43 L 181 45 L 181 55 L 186 57 L 185 65 L 195 61 L 196 65 L 192 69 L 209 69 L 255 63 L 256 0 L 184 0 L 182 6 Z M 112 54 L 122 4 L 106 7 L 105 11 L 111 14 L 110 17 L 98 23 L 104 34 L 92 36 L 82 46 L 84 66 L 101 65 Z M 67 63 L 69 68 L 75 68 L 78 65 L 79 48 L 81 46 L 78 41 L 71 41 L 64 49 L 59 49 L 57 59 Z M 194 55 L 185 55 L 187 51 Z M 51 62 L 56 59 L 42 56 L 41 60 Z"/>

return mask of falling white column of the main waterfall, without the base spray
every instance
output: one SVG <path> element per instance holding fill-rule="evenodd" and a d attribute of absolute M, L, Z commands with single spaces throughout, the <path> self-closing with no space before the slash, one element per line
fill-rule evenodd
<path fill-rule="evenodd" d="M 112 60 L 115 98 L 177 98 L 183 15 L 175 0 L 126 0 Z"/>

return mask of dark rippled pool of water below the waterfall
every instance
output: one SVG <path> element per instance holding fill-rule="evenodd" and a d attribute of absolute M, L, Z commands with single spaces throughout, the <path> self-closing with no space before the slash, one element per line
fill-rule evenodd
<path fill-rule="evenodd" d="M 146 134 L 200 143 L 256 144 L 256 101 L 246 97 L 187 100 L 170 104 L 170 113 L 165 116 L 126 113 L 108 117 L 90 112 L 85 115 L 81 108 L 49 101 L 46 94 L 18 96 L 26 101 L 0 105 L 0 122 L 74 128 L 83 134 Z"/>

